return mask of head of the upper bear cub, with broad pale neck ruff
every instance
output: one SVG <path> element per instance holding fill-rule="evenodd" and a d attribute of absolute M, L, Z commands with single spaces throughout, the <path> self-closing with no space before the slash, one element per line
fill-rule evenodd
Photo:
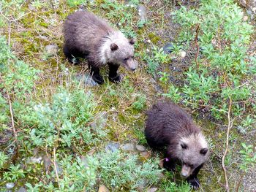
<path fill-rule="evenodd" d="M 134 71 L 138 66 L 138 61 L 134 57 L 135 41 L 127 39 L 120 31 L 110 35 L 110 41 L 105 46 L 105 56 L 107 62 L 124 66 L 124 68 Z"/>

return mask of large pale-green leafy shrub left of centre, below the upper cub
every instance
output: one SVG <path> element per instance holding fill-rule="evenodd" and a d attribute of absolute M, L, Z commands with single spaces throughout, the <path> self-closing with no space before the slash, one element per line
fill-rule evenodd
<path fill-rule="evenodd" d="M 85 93 L 79 87 L 72 92 L 60 88 L 51 103 L 34 107 L 37 128 L 30 132 L 32 142 L 39 147 L 53 147 L 56 142 L 63 147 L 71 147 L 79 141 L 87 146 L 95 144 L 105 137 L 101 127 L 93 130 L 89 126 L 96 106 L 92 93 Z"/>

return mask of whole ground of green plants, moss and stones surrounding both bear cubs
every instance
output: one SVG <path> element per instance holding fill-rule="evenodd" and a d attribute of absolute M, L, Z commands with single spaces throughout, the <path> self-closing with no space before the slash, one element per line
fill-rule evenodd
<path fill-rule="evenodd" d="M 200 191 L 256 188 L 255 13 L 247 15 L 248 7 L 0 2 L 0 191 L 191 191 L 180 168 L 166 172 L 163 154 L 146 144 L 145 111 L 158 99 L 184 107 L 206 134 L 211 158 L 198 175 Z M 103 70 L 106 83 L 97 86 L 86 61 L 73 66 L 64 58 L 62 24 L 78 9 L 136 39 L 140 64 L 133 73 L 120 69 L 121 84 Z"/>

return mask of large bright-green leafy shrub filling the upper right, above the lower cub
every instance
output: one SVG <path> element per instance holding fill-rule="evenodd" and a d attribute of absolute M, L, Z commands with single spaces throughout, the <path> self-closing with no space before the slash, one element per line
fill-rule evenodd
<path fill-rule="evenodd" d="M 241 103 L 247 106 L 247 101 L 254 100 L 249 80 L 255 68 L 255 58 L 246 55 L 252 26 L 242 20 L 242 10 L 229 0 L 201 1 L 198 9 L 181 7 L 173 15 L 181 25 L 178 47 L 194 46 L 199 28 L 200 54 L 186 72 L 184 87 L 171 85 L 165 96 L 174 95 L 176 102 L 194 108 L 207 106 L 217 119 L 225 118 L 227 101 L 232 99 L 233 114 L 241 115 Z"/>

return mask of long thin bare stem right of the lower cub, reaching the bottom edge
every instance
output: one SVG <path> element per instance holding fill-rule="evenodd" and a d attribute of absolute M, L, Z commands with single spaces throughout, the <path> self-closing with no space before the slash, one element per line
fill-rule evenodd
<path fill-rule="evenodd" d="M 228 150 L 228 140 L 229 140 L 229 136 L 230 136 L 230 128 L 233 126 L 233 123 L 231 122 L 230 120 L 230 113 L 231 113 L 231 107 L 232 107 L 232 99 L 230 98 L 229 99 L 229 107 L 228 107 L 228 112 L 227 112 L 227 120 L 228 120 L 228 124 L 227 124 L 227 138 L 226 138 L 226 148 L 225 148 L 225 152 L 222 156 L 222 169 L 223 169 L 223 172 L 224 172 L 224 175 L 225 175 L 225 188 L 226 188 L 226 191 L 229 192 L 230 191 L 230 188 L 229 188 L 229 185 L 228 185 L 228 179 L 227 179 L 227 169 L 225 167 L 225 157 L 227 155 L 227 150 Z"/>

